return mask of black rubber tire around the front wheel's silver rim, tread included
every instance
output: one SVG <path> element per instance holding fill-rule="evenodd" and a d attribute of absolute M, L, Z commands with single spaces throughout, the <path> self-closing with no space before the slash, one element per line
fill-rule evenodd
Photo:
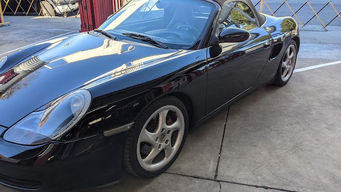
<path fill-rule="evenodd" d="M 178 148 L 177 152 L 174 152 L 175 155 L 171 158 L 171 160 L 161 169 L 155 170 L 155 171 L 147 171 L 145 170 L 140 163 L 138 162 L 137 159 L 137 143 L 138 143 L 138 138 L 140 135 L 140 132 L 148 120 L 148 118 L 154 114 L 157 110 L 164 106 L 175 106 L 177 107 L 183 114 L 184 121 L 185 121 L 185 128 L 184 128 L 184 134 L 182 138 L 182 142 L 180 144 L 180 147 Z M 188 119 L 188 114 L 185 105 L 176 97 L 173 96 L 166 96 L 163 97 L 149 106 L 147 106 L 141 113 L 140 115 L 136 118 L 135 123 L 131 130 L 129 130 L 127 139 L 125 141 L 125 146 L 124 146 L 124 154 L 123 154 L 123 164 L 128 172 L 131 174 L 141 177 L 141 178 L 152 178 L 156 177 L 157 175 L 165 172 L 171 164 L 175 161 L 177 156 L 180 154 L 182 147 L 185 143 L 187 132 L 188 132 L 188 126 L 189 126 L 189 119 Z"/>

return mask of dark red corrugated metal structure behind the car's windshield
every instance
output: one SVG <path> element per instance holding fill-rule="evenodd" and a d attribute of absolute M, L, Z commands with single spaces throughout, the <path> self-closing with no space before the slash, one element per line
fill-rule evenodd
<path fill-rule="evenodd" d="M 108 16 L 117 11 L 121 0 L 78 0 L 81 30 L 86 32 L 98 28 Z"/>

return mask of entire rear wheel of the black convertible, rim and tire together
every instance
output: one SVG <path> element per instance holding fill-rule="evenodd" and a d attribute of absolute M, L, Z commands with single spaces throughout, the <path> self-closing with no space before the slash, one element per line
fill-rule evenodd
<path fill-rule="evenodd" d="M 283 86 L 292 76 L 296 64 L 297 44 L 295 40 L 291 40 L 287 46 L 281 62 L 279 63 L 277 74 L 274 77 L 273 85 Z"/>

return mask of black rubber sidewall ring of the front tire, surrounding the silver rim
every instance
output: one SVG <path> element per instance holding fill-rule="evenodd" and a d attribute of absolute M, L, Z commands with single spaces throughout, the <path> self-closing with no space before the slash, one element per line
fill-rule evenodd
<path fill-rule="evenodd" d="M 167 105 L 175 106 L 182 112 L 184 119 L 185 119 L 184 135 L 183 135 L 183 138 L 182 138 L 182 141 L 181 141 L 181 144 L 180 144 L 178 151 L 173 156 L 173 158 L 170 160 L 170 162 L 167 163 L 167 165 L 165 165 L 163 168 L 161 168 L 157 171 L 146 171 L 145 169 L 143 169 L 141 167 L 141 165 L 139 164 L 138 159 L 137 159 L 137 152 L 136 152 L 137 141 L 138 141 L 140 132 L 141 132 L 144 124 L 146 123 L 146 121 L 150 117 L 150 115 L 152 115 L 158 109 L 160 109 L 164 106 L 167 106 Z M 175 161 L 177 156 L 180 154 L 180 152 L 183 148 L 183 145 L 186 141 L 186 137 L 187 137 L 187 133 L 188 133 L 188 126 L 189 126 L 189 119 L 188 119 L 188 114 L 187 114 L 187 110 L 185 108 L 185 105 L 176 97 L 161 98 L 161 99 L 153 102 L 152 104 L 150 104 L 147 108 L 145 108 L 144 111 L 139 115 L 139 117 L 136 118 L 136 121 L 132 127 L 132 129 L 134 129 L 134 137 L 133 137 L 133 141 L 132 141 L 133 143 L 130 147 L 131 149 L 129 152 L 129 156 L 130 156 L 131 166 L 133 167 L 136 175 L 139 177 L 143 177 L 143 178 L 152 178 L 152 177 L 155 177 L 155 176 L 165 172 L 171 166 L 171 164 Z"/>

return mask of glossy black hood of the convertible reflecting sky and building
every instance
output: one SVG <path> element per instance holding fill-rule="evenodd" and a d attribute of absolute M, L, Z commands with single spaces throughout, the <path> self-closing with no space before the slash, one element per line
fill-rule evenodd
<path fill-rule="evenodd" d="M 0 125 L 10 127 L 72 90 L 177 52 L 87 33 L 53 43 L 0 75 Z"/>

